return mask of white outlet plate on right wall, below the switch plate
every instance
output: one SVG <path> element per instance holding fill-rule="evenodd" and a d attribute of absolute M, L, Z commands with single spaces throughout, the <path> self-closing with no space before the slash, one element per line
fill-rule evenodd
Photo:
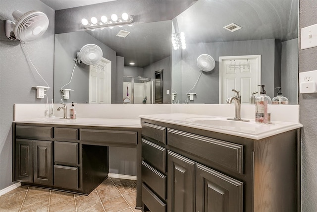
<path fill-rule="evenodd" d="M 299 93 L 317 93 L 317 70 L 299 72 Z"/>

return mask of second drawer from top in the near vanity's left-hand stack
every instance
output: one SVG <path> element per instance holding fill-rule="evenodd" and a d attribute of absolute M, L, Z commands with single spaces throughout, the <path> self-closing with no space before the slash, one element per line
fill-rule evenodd
<path fill-rule="evenodd" d="M 166 149 L 142 139 L 142 157 L 159 171 L 166 172 Z"/>

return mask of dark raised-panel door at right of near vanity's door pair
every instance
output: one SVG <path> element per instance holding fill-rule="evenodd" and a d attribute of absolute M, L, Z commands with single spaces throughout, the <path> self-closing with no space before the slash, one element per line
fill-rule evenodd
<path fill-rule="evenodd" d="M 196 212 L 242 211 L 243 183 L 197 164 Z"/>

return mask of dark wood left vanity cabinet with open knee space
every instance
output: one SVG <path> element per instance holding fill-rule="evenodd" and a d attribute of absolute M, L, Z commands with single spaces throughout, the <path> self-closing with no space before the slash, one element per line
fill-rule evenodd
<path fill-rule="evenodd" d="M 140 131 L 140 128 L 13 123 L 12 180 L 88 195 L 108 176 L 108 146 L 137 148 Z M 141 175 L 140 166 L 137 173 Z M 140 190 L 138 183 L 139 208 Z"/>

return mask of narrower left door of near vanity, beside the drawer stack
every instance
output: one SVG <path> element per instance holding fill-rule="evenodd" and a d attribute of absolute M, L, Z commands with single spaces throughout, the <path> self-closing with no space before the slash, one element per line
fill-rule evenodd
<path fill-rule="evenodd" d="M 168 150 L 168 212 L 194 212 L 195 162 Z"/>

